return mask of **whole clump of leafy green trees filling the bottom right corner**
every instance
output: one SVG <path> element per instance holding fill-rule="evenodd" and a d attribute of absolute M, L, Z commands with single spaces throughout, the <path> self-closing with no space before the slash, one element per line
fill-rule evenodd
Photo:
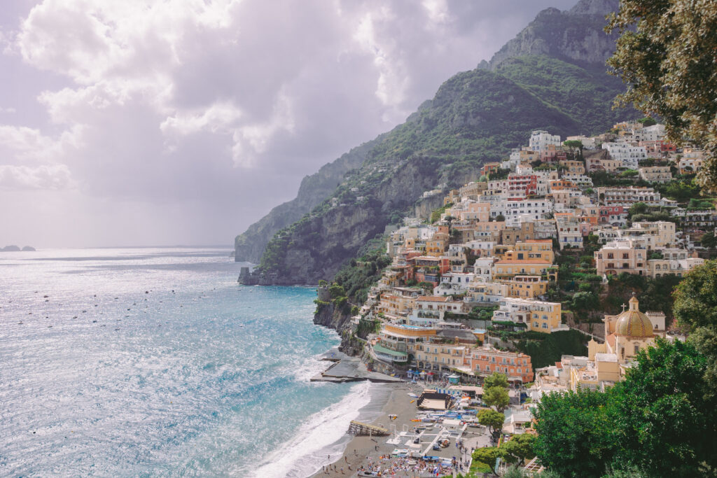
<path fill-rule="evenodd" d="M 657 338 L 607 391 L 544 396 L 533 450 L 564 477 L 714 476 L 717 397 L 707 367 L 691 343 Z"/>

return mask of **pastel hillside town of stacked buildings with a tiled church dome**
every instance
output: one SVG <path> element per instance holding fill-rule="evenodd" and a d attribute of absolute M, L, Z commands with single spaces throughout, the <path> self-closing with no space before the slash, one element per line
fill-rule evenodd
<path fill-rule="evenodd" d="M 700 240 L 717 226 L 711 203 L 658 191 L 691 179 L 701 151 L 664 137 L 663 125 L 639 122 L 592 137 L 536 130 L 505 161 L 485 164 L 479 181 L 424 193 L 442 195 L 442 207 L 388 231 L 391 262 L 366 302 L 353 307 L 351 330 L 369 370 L 455 400 L 470 391 L 479 405 L 479 386 L 502 374 L 511 385 L 508 437 L 531 431 L 531 408 L 544 394 L 604 391 L 657 337 L 683 340 L 665 312 L 641 310 L 634 293 L 597 329 L 551 300 L 567 287 L 561 264 L 571 258 L 579 265 L 570 273 L 586 285 L 570 287 L 581 291 L 602 290 L 622 274 L 682 277 L 703 264 Z M 320 287 L 317 303 L 332 293 Z M 516 348 L 521 339 L 568 331 L 580 334 L 586 353 L 538 366 Z"/>

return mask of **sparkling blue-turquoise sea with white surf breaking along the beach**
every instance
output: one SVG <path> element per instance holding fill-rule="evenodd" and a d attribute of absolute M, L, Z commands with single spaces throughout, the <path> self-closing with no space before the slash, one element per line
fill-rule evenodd
<path fill-rule="evenodd" d="M 0 476 L 303 477 L 338 454 L 371 386 L 310 383 L 339 342 L 315 291 L 238 285 L 228 254 L 1 253 Z"/>

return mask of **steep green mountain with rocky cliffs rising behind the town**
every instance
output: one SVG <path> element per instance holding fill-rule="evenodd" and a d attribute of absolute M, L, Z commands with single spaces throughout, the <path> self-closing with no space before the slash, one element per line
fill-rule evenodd
<path fill-rule="evenodd" d="M 614 47 L 604 15 L 616 6 L 582 0 L 570 11 L 542 11 L 489 63 L 451 77 L 406 123 L 362 145 L 361 166 L 277 231 L 246 282 L 331 279 L 369 239 L 412 214 L 424 191 L 478 178 L 484 163 L 526 145 L 531 130 L 602 133 L 624 119 L 612 110 L 622 83 L 604 67 Z"/>

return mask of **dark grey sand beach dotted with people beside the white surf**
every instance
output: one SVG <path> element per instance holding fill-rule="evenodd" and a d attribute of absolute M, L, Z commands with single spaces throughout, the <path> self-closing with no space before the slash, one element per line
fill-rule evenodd
<path fill-rule="evenodd" d="M 416 418 L 417 406 L 416 398 L 409 396 L 409 393 L 420 394 L 424 389 L 424 384 L 411 384 L 401 383 L 396 385 L 388 385 L 392 388 L 391 396 L 388 401 L 381 409 L 381 415 L 379 418 L 372 421 L 372 424 L 384 426 L 385 428 L 391 429 L 392 426 L 396 427 L 398 432 L 404 429 L 404 425 L 408 429 L 412 429 L 417 425 L 412 419 Z M 396 415 L 397 418 L 394 420 L 389 419 L 389 415 Z M 346 424 L 348 428 L 348 424 Z M 390 457 L 391 451 L 394 449 L 405 448 L 404 444 L 387 444 L 386 441 L 389 436 L 355 436 L 351 441 L 348 442 L 346 450 L 343 455 L 331 457 L 331 465 L 328 469 L 323 469 L 313 475 L 314 478 L 326 478 L 326 477 L 355 477 L 359 468 L 363 465 L 369 467 L 373 465 L 376 467 L 380 466 L 382 469 L 390 469 L 394 466 L 395 474 L 385 473 L 383 476 L 397 476 L 397 477 L 419 477 L 426 476 L 427 473 L 419 473 L 414 471 L 406 471 L 404 468 L 406 459 L 398 459 Z M 470 429 L 465 434 L 462 444 L 466 446 L 466 450 L 462 451 L 459 449 L 454 441 L 451 441 L 450 446 L 442 451 L 436 451 L 435 454 L 443 457 L 456 457 L 459 462 L 462 460 L 467 462 L 470 456 L 470 449 L 474 446 L 483 446 L 483 441 L 487 441 L 479 429 Z M 422 449 L 428 444 L 422 442 Z M 381 459 L 381 457 L 384 457 Z M 389 457 L 389 458 L 385 458 Z"/>

